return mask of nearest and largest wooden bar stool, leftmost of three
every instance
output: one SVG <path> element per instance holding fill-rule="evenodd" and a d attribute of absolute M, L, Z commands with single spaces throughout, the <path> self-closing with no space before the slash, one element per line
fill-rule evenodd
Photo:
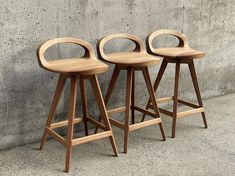
<path fill-rule="evenodd" d="M 59 43 L 72 43 L 76 45 L 80 45 L 84 48 L 85 54 L 81 58 L 68 58 L 68 59 L 60 59 L 53 61 L 46 61 L 44 54 L 46 50 L 52 45 Z M 70 168 L 70 160 L 71 160 L 71 151 L 72 147 L 75 145 L 80 145 L 86 142 L 102 139 L 109 137 L 110 142 L 112 144 L 113 151 L 115 156 L 118 156 L 115 140 L 113 137 L 112 129 L 110 126 L 110 122 L 107 116 L 107 111 L 104 105 L 103 97 L 100 91 L 100 86 L 98 83 L 98 79 L 96 74 L 106 72 L 108 70 L 108 65 L 99 61 L 94 54 L 94 50 L 92 46 L 80 39 L 76 38 L 57 38 L 53 40 L 49 40 L 43 43 L 37 51 L 39 65 L 49 71 L 56 72 L 60 74 L 57 87 L 54 94 L 54 99 L 51 104 L 51 109 L 48 115 L 47 124 L 44 130 L 44 134 L 41 140 L 40 150 L 42 150 L 43 145 L 47 139 L 47 136 L 50 135 L 55 138 L 58 142 L 63 144 L 66 147 L 66 163 L 65 163 L 65 171 L 69 172 Z M 69 100 L 69 110 L 68 110 L 68 120 L 52 123 L 55 111 L 62 94 L 66 79 L 71 79 L 70 83 L 70 100 Z M 76 97 L 77 97 L 77 81 L 80 80 L 80 88 L 81 88 L 81 99 L 83 106 L 83 118 L 76 117 L 75 109 L 76 109 Z M 85 79 L 90 80 L 92 89 L 95 94 L 95 98 L 103 119 L 104 124 L 94 120 L 89 117 L 87 110 L 87 99 L 85 93 Z M 73 129 L 74 125 L 83 121 L 85 126 L 85 137 L 73 138 Z M 98 134 L 88 135 L 87 122 L 91 122 L 93 125 L 101 128 L 104 132 Z M 54 129 L 60 127 L 67 127 L 67 139 L 63 138 L 61 135 L 56 133 Z"/>

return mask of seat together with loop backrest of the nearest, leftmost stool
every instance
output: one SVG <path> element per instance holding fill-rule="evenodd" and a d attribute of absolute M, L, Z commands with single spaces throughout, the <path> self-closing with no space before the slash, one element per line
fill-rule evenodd
<path fill-rule="evenodd" d="M 44 56 L 45 52 L 49 47 L 58 43 L 71 43 L 80 45 L 85 50 L 84 56 L 81 58 L 66 58 L 47 61 Z M 108 65 L 100 62 L 96 58 L 92 46 L 86 41 L 77 38 L 57 38 L 43 43 L 39 47 L 38 59 L 42 68 L 56 73 L 91 75 L 106 72 L 108 70 Z"/>

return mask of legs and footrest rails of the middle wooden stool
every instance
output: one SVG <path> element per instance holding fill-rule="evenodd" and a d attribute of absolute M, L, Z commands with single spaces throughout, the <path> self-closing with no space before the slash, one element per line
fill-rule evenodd
<path fill-rule="evenodd" d="M 127 153 L 129 132 L 140 129 L 140 128 L 144 128 L 144 127 L 147 127 L 150 125 L 158 124 L 160 127 L 160 131 L 161 131 L 163 140 L 166 140 L 164 128 L 162 125 L 159 109 L 158 109 L 157 102 L 156 102 L 156 97 L 154 94 L 154 90 L 152 87 L 152 83 L 151 83 L 151 79 L 150 79 L 150 75 L 149 75 L 147 67 L 131 67 L 131 66 L 124 67 L 124 66 L 116 65 L 114 68 L 114 71 L 113 71 L 113 75 L 112 75 L 105 99 L 104 99 L 105 105 L 108 104 L 108 101 L 109 101 L 111 93 L 114 89 L 115 83 L 116 83 L 118 75 L 120 73 L 120 70 L 127 71 L 126 105 L 125 105 L 125 107 L 111 109 L 111 110 L 108 110 L 107 112 L 108 112 L 109 116 L 116 114 L 116 113 L 119 113 L 119 112 L 125 112 L 125 122 L 124 123 L 121 123 L 115 119 L 109 118 L 110 123 L 112 125 L 120 128 L 124 131 L 124 153 Z M 136 70 L 142 71 L 142 73 L 143 73 L 144 80 L 145 80 L 151 101 L 153 102 L 154 113 L 151 111 L 148 111 L 146 109 L 140 108 L 138 106 L 135 106 L 135 71 Z M 135 111 L 145 112 L 146 114 L 154 117 L 154 119 L 135 124 L 135 115 L 134 115 Z M 129 122 L 130 118 L 131 118 L 132 124 L 130 124 L 130 122 Z M 101 117 L 100 117 L 99 121 L 101 121 Z M 97 132 L 97 129 L 98 128 L 96 128 L 95 133 Z"/>

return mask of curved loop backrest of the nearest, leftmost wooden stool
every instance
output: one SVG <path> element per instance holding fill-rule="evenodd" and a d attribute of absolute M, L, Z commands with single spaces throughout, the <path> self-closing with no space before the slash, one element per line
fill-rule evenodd
<path fill-rule="evenodd" d="M 41 67 L 47 68 L 47 65 L 49 63 L 45 59 L 45 52 L 48 48 L 50 48 L 52 45 L 60 44 L 60 43 L 72 43 L 81 46 L 84 50 L 84 56 L 83 58 L 96 58 L 95 53 L 93 50 L 93 47 L 90 43 L 86 42 L 85 40 L 77 39 L 77 38 L 56 38 L 48 40 L 44 43 L 42 43 L 38 49 L 37 49 L 37 56 L 38 56 L 38 62 Z"/>

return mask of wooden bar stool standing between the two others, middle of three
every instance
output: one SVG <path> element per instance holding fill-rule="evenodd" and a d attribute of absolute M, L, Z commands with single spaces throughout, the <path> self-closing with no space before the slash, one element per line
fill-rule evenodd
<path fill-rule="evenodd" d="M 124 38 L 124 39 L 133 41 L 136 45 L 135 49 L 130 52 L 115 52 L 115 53 L 109 53 L 109 54 L 104 53 L 105 44 L 108 41 L 117 39 L 117 38 Z M 111 78 L 111 81 L 110 81 L 110 84 L 109 84 L 109 87 L 108 87 L 108 90 L 104 99 L 105 105 L 108 104 L 108 101 L 110 99 L 111 93 L 113 91 L 113 88 L 115 86 L 115 83 L 117 81 L 120 71 L 121 70 L 127 71 L 126 105 L 125 107 L 108 110 L 109 116 L 119 113 L 119 112 L 125 112 L 124 124 L 117 120 L 109 118 L 110 123 L 112 125 L 124 130 L 124 153 L 127 153 L 129 132 L 133 130 L 144 128 L 144 127 L 154 125 L 154 124 L 159 124 L 163 140 L 165 140 L 164 129 L 163 129 L 154 90 L 153 90 L 149 72 L 148 72 L 148 66 L 158 64 L 159 59 L 147 54 L 146 50 L 144 49 L 143 41 L 139 39 L 138 37 L 130 35 L 130 34 L 113 34 L 113 35 L 106 36 L 99 41 L 97 47 L 98 47 L 97 48 L 98 55 L 101 59 L 109 63 L 115 64 L 113 75 L 112 75 L 112 78 Z M 134 98 L 135 97 L 135 85 L 134 85 L 135 84 L 135 71 L 142 71 L 143 73 L 151 101 L 153 102 L 154 113 L 148 110 L 145 110 L 143 108 L 140 108 L 138 106 L 135 106 L 135 98 Z M 154 119 L 135 124 L 135 116 L 134 116 L 135 110 L 144 112 L 154 117 Z M 131 111 L 132 125 L 129 124 L 130 111 Z"/>

